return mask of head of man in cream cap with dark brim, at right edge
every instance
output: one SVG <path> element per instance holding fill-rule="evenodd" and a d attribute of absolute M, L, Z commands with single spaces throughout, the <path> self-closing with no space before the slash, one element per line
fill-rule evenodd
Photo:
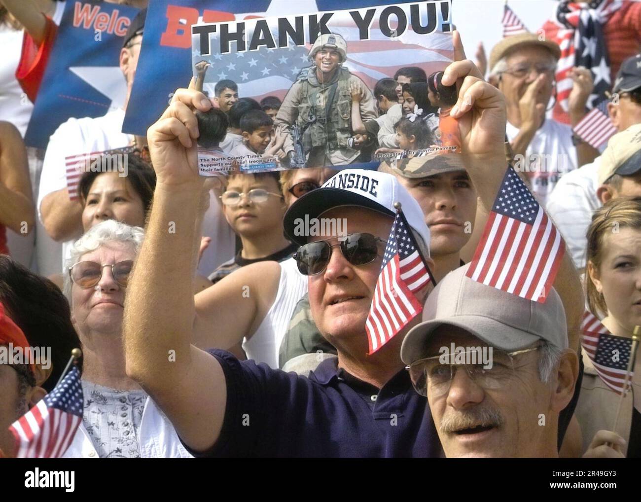
<path fill-rule="evenodd" d="M 615 197 L 641 196 L 641 124 L 610 138 L 597 174 L 597 196 L 602 203 Z"/>

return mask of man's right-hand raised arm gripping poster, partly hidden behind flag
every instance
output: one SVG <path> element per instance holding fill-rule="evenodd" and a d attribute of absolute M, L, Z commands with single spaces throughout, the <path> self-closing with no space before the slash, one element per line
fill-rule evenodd
<path fill-rule="evenodd" d="M 460 83 L 458 101 L 452 112 L 459 121 L 463 150 L 460 155 L 463 155 L 476 192 L 489 213 L 507 169 L 503 149 L 507 120 L 505 99 L 497 88 L 483 81 L 474 63 L 464 60 L 465 53 L 457 32 L 454 32 L 454 51 L 456 61 L 445 69 L 443 84 Z M 554 280 L 554 289 L 565 308 L 569 346 L 578 350 L 584 312 L 583 290 L 567 252 Z"/>

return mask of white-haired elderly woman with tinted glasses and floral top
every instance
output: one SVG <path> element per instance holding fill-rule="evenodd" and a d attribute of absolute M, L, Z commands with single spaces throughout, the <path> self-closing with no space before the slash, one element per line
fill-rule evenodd
<path fill-rule="evenodd" d="M 71 250 L 65 294 L 83 344 L 83 422 L 68 457 L 189 457 L 176 431 L 126 376 L 122 315 L 141 228 L 97 224 Z M 171 355 L 169 355 L 171 356 Z"/>

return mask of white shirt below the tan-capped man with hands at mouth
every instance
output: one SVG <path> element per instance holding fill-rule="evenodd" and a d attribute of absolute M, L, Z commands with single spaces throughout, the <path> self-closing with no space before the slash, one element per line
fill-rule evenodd
<path fill-rule="evenodd" d="M 565 174 L 547 199 L 547 212 L 565 239 L 574 265 L 585 267 L 587 238 L 592 213 L 601 207 L 597 197 L 597 171 L 601 157 Z"/>

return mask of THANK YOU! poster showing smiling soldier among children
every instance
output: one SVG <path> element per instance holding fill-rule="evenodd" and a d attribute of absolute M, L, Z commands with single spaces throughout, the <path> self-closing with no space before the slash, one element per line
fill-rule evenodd
<path fill-rule="evenodd" d="M 192 26 L 203 175 L 460 151 L 449 0 Z"/>

